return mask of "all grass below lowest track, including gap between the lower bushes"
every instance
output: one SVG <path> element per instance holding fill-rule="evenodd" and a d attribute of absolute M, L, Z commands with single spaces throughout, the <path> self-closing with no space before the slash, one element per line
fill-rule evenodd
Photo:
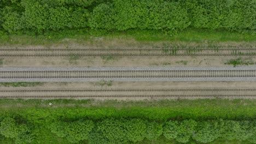
<path fill-rule="evenodd" d="M 51 105 L 49 105 L 51 103 Z M 253 121 L 256 118 L 256 100 L 160 100 L 160 101 L 95 101 L 95 100 L 21 100 L 0 99 L 0 120 L 5 117 L 20 123 L 33 125 L 37 143 L 67 143 L 66 139 L 51 133 L 49 125 L 56 121 L 73 122 L 90 119 L 94 122 L 108 118 L 139 118 L 147 121 L 168 120 L 208 121 L 226 119 Z M 1 140 L 2 139 L 2 140 Z M 14 140 L 1 138 L 1 143 Z M 82 143 L 87 143 L 83 141 Z M 161 136 L 158 140 L 143 140 L 138 143 L 176 143 Z M 218 140 L 213 143 L 247 143 L 246 141 Z"/>

